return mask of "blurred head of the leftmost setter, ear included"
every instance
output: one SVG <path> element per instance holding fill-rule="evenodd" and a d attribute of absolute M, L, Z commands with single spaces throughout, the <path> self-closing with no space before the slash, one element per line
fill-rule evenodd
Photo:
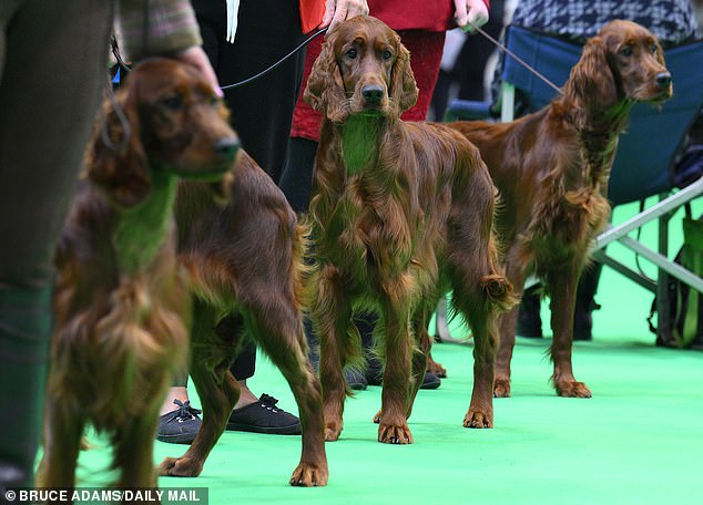
<path fill-rule="evenodd" d="M 106 99 L 88 151 L 86 176 L 131 207 L 147 195 L 152 171 L 220 179 L 240 142 L 212 86 L 191 65 L 153 59 L 134 68 Z"/>

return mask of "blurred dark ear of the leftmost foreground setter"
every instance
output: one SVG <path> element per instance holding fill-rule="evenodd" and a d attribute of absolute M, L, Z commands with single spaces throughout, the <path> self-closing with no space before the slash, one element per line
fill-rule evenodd
<path fill-rule="evenodd" d="M 130 208 L 149 194 L 151 177 L 141 142 L 137 96 L 128 79 L 103 102 L 85 156 L 85 176 L 114 205 Z"/>

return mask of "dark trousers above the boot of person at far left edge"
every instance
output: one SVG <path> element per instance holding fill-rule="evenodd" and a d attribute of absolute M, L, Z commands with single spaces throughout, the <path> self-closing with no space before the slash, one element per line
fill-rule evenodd
<path fill-rule="evenodd" d="M 53 276 L 83 151 L 108 85 L 112 2 L 0 2 L 0 289 Z"/>

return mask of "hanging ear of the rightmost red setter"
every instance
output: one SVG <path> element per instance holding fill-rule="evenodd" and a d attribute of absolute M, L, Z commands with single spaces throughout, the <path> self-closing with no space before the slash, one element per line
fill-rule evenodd
<path fill-rule="evenodd" d="M 602 38 L 593 37 L 585 43 L 581 59 L 571 69 L 564 93 L 580 97 L 590 109 L 608 110 L 618 102 L 618 84 Z"/>

